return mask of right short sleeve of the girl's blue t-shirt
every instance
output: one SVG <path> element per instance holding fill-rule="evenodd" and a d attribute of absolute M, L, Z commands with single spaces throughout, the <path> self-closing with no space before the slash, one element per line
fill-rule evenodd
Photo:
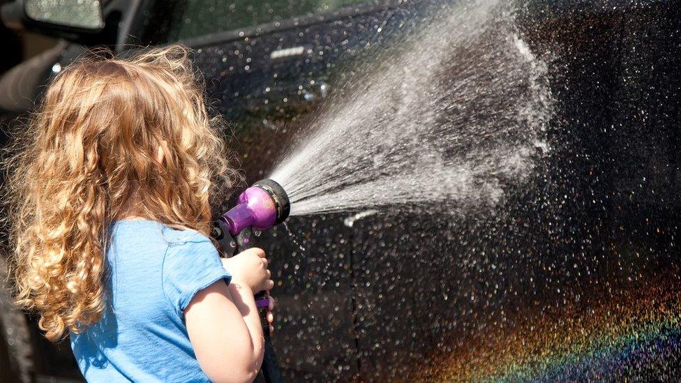
<path fill-rule="evenodd" d="M 170 243 L 163 260 L 163 292 L 180 316 L 197 292 L 220 279 L 230 283 L 232 276 L 206 236 L 196 232 Z"/>

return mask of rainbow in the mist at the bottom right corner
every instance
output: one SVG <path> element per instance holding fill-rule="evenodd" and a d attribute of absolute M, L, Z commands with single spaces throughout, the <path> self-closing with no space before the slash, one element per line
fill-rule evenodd
<path fill-rule="evenodd" d="M 681 355 L 681 283 L 627 287 L 538 310 L 518 324 L 459 340 L 410 379 L 669 380 Z"/>

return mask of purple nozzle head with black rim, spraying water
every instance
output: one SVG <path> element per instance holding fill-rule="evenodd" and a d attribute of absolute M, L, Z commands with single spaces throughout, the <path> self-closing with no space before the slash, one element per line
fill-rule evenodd
<path fill-rule="evenodd" d="M 282 223 L 291 211 L 285 190 L 271 179 L 257 181 L 239 195 L 237 206 L 221 219 L 235 236 L 246 227 L 264 230 Z"/>

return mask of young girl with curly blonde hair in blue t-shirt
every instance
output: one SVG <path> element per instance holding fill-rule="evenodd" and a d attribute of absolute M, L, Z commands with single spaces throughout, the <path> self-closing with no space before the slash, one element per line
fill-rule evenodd
<path fill-rule="evenodd" d="M 211 197 L 230 187 L 203 89 L 172 46 L 57 75 L 10 167 L 17 303 L 70 332 L 94 382 L 246 382 L 263 340 L 262 250 L 220 261 Z M 271 313 L 269 314 L 271 322 Z"/>

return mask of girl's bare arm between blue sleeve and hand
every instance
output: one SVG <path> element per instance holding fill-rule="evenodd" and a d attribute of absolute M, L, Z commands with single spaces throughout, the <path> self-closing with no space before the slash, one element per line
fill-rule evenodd
<path fill-rule="evenodd" d="M 213 382 L 253 382 L 263 355 L 253 292 L 220 280 L 198 292 L 185 310 L 189 339 Z"/>

